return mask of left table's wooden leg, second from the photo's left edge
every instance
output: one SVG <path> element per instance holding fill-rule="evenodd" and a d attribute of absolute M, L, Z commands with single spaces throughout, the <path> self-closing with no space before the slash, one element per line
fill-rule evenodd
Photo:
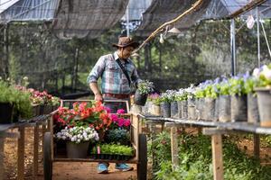
<path fill-rule="evenodd" d="M 24 127 L 19 127 L 20 138 L 18 139 L 18 176 L 17 179 L 22 180 L 24 175 Z"/>

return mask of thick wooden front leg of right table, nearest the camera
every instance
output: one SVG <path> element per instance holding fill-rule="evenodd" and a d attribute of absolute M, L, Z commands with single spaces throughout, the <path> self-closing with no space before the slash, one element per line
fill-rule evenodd
<path fill-rule="evenodd" d="M 223 158 L 222 158 L 222 137 L 221 134 L 211 135 L 211 152 L 213 179 L 223 180 Z"/>

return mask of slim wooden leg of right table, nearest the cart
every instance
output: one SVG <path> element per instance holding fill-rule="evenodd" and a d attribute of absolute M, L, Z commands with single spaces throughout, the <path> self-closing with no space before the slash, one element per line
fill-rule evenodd
<path fill-rule="evenodd" d="M 179 165 L 178 156 L 178 139 L 177 139 L 177 127 L 171 128 L 171 147 L 172 147 L 172 162 L 173 170 Z"/>

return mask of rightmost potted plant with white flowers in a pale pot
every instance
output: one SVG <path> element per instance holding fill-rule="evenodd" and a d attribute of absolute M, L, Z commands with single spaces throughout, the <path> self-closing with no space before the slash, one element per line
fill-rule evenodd
<path fill-rule="evenodd" d="M 254 70 L 257 78 L 257 104 L 260 115 L 260 125 L 271 127 L 271 64 Z"/>

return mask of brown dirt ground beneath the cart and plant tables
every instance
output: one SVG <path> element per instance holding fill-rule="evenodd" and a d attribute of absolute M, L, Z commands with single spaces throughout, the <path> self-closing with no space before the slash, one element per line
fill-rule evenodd
<path fill-rule="evenodd" d="M 14 130 L 16 131 L 16 130 Z M 160 131 L 159 129 L 157 131 Z M 197 133 L 198 130 L 191 129 L 192 132 Z M 42 134 L 42 133 L 40 133 Z M 42 137 L 41 137 L 42 138 Z M 246 149 L 248 156 L 253 155 L 253 140 L 241 139 L 238 141 L 240 148 Z M 16 179 L 16 160 L 17 160 L 17 139 L 5 139 L 5 179 Z M 42 172 L 42 141 L 40 141 L 39 149 L 39 174 L 37 179 L 43 179 Z M 261 146 L 260 158 L 261 162 L 270 165 L 271 148 Z M 26 128 L 25 130 L 25 178 L 33 179 L 33 128 Z M 110 164 L 109 174 L 99 175 L 96 171 L 97 163 L 81 163 L 81 162 L 56 162 L 53 163 L 53 179 L 55 180 L 132 180 L 136 179 L 136 166 L 134 171 L 120 172 L 115 170 L 115 164 Z M 151 165 L 148 166 L 148 173 L 151 172 Z M 151 175 L 148 175 L 151 179 Z"/>

